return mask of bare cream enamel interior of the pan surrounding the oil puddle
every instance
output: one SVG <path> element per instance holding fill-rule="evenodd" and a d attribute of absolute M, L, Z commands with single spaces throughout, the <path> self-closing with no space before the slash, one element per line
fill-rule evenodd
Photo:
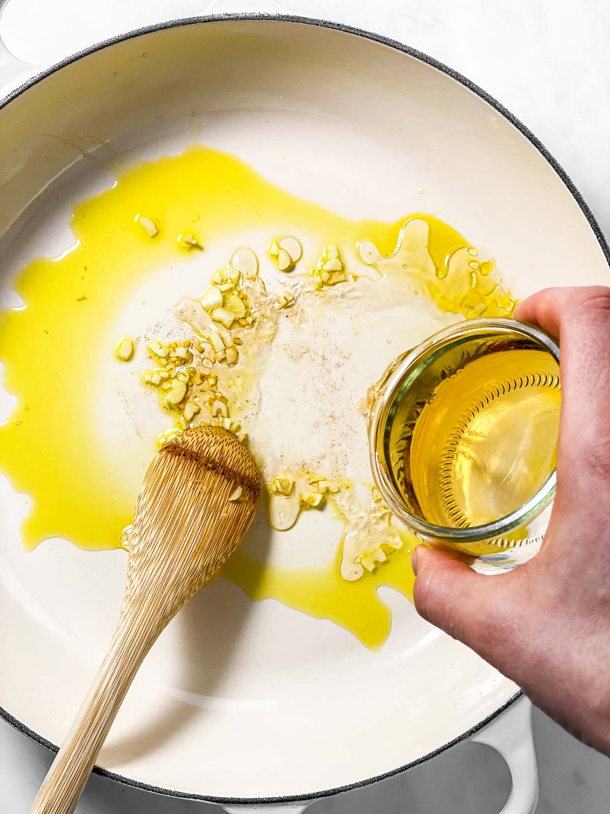
<path fill-rule="evenodd" d="M 112 182 L 73 147 L 86 133 L 128 164 L 219 147 L 349 217 L 439 212 L 493 252 L 520 295 L 608 282 L 569 190 L 508 120 L 435 68 L 351 34 L 277 21 L 147 33 L 40 81 L 0 112 L 0 129 L 5 304 L 28 256 L 71 243 L 71 204 Z M 58 743 L 114 626 L 126 555 L 61 540 L 24 554 L 23 497 L 6 479 L 0 497 L 0 706 Z M 311 794 L 421 758 L 514 694 L 403 597 L 384 598 L 393 631 L 373 653 L 216 581 L 155 646 L 98 764 L 184 794 Z"/>

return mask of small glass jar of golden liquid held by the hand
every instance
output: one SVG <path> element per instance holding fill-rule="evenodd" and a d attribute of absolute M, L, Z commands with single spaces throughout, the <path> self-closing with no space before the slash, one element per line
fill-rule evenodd
<path fill-rule="evenodd" d="M 459 322 L 372 388 L 373 478 L 392 513 L 477 571 L 540 549 L 556 490 L 560 349 L 512 319 Z"/>

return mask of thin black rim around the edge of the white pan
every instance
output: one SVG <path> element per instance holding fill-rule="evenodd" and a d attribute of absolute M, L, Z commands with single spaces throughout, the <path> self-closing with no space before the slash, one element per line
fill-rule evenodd
<path fill-rule="evenodd" d="M 104 42 L 99 42 L 97 45 L 89 46 L 89 48 L 85 48 L 85 50 L 78 51 L 76 54 L 72 56 L 68 56 L 66 59 L 63 59 L 61 62 L 56 63 L 51 68 L 47 68 L 45 71 L 38 73 L 37 76 L 32 77 L 28 81 L 24 82 L 23 85 L 15 88 L 15 90 L 11 91 L 10 94 L 7 95 L 6 98 L 0 99 L 0 110 L 2 107 L 6 107 L 7 104 L 11 103 L 13 99 L 20 94 L 23 94 L 26 90 L 31 88 L 33 85 L 36 85 L 37 82 L 46 79 L 54 72 L 59 71 L 61 68 L 65 68 L 67 65 L 70 65 L 73 62 L 76 62 L 78 59 L 82 59 L 89 54 L 94 54 L 95 51 L 102 50 L 102 48 L 107 48 L 108 46 L 115 45 L 119 42 L 125 42 L 126 40 L 133 39 L 134 37 L 141 37 L 144 34 L 149 34 L 155 31 L 163 31 L 167 28 L 181 28 L 186 25 L 193 25 L 193 24 L 204 24 L 204 23 L 217 23 L 217 22 L 239 22 L 242 20 L 266 20 L 271 22 L 278 22 L 278 23 L 298 23 L 298 24 L 306 24 L 306 25 L 313 25 L 318 28 L 330 28 L 335 31 L 342 31 L 343 33 L 352 34 L 355 37 L 362 37 L 366 40 L 372 40 L 373 42 L 379 42 L 381 45 L 389 46 L 394 50 L 402 51 L 403 54 L 407 54 L 408 56 L 414 57 L 415 59 L 419 59 L 420 62 L 423 62 L 427 65 L 430 65 L 432 68 L 436 68 L 438 71 L 447 74 L 448 77 L 455 79 L 456 82 L 459 82 L 460 85 L 464 85 L 464 87 L 468 88 L 468 90 L 472 90 L 474 94 L 477 94 L 478 97 L 483 99 L 484 102 L 493 107 L 497 112 L 501 113 L 502 116 L 507 119 L 517 130 L 519 130 L 525 138 L 535 147 L 538 152 L 547 160 L 548 164 L 551 165 L 551 168 L 555 170 L 557 175 L 560 177 L 561 181 L 564 182 L 564 185 L 567 186 L 569 192 L 573 195 L 578 207 L 580 208 L 582 214 L 586 217 L 593 234 L 599 243 L 599 247 L 603 252 L 603 256 L 606 258 L 608 266 L 610 267 L 610 248 L 608 248 L 608 243 L 603 236 L 602 230 L 599 228 L 598 222 L 595 220 L 593 213 L 590 211 L 590 208 L 586 204 L 585 200 L 582 198 L 582 195 L 577 190 L 576 186 L 574 186 L 572 179 L 569 177 L 567 173 L 565 173 L 564 169 L 560 166 L 560 164 L 553 158 L 551 153 L 547 150 L 547 148 L 542 144 L 542 142 L 534 136 L 534 133 L 531 132 L 525 125 L 513 116 L 510 111 L 507 110 L 506 107 L 503 107 L 493 96 L 486 93 L 485 90 L 482 90 L 478 85 L 475 85 L 474 82 L 471 82 L 466 77 L 462 76 L 457 71 L 454 71 L 453 68 L 448 68 L 447 65 L 444 65 L 441 62 L 438 62 L 437 59 L 433 59 L 432 57 L 423 54 L 421 51 L 416 50 L 415 48 L 411 48 L 410 46 L 403 45 L 401 42 L 396 42 L 395 40 L 390 39 L 390 37 L 383 37 L 381 34 L 372 33 L 369 31 L 364 31 L 361 28 L 354 28 L 351 25 L 345 25 L 342 23 L 333 23 L 328 20 L 316 20 L 309 17 L 301 17 L 298 15 L 290 15 L 290 14 L 216 14 L 216 15 L 207 15 L 201 17 L 187 17 L 183 20 L 169 20 L 165 23 L 158 23 L 155 25 L 149 25 L 144 28 L 137 28 L 133 31 L 130 31 L 125 34 L 120 34 L 117 37 L 112 37 L 111 39 L 105 40 Z M 477 733 L 480 729 L 483 729 L 487 724 L 489 724 L 492 720 L 494 720 L 497 716 L 499 716 L 503 711 L 511 707 L 514 702 L 518 698 L 521 697 L 521 690 L 518 690 L 512 698 L 509 698 L 508 701 L 504 702 L 501 707 L 499 707 L 495 712 L 493 712 L 490 716 L 487 716 L 484 720 L 481 720 L 480 724 L 474 726 L 472 729 L 468 729 L 468 732 L 464 732 L 459 737 L 455 737 L 452 741 L 449 741 L 443 746 L 439 746 L 438 749 L 435 749 L 432 752 L 429 752 L 428 755 L 424 755 L 416 760 L 413 760 L 411 763 L 404 764 L 403 766 L 399 766 L 399 768 L 395 768 L 390 772 L 385 772 L 384 774 L 377 775 L 375 777 L 368 777 L 366 780 L 361 780 L 355 783 L 351 783 L 348 786 L 340 786 L 334 789 L 325 789 L 321 791 L 310 791 L 303 794 L 293 794 L 287 797 L 258 797 L 258 798 L 244 798 L 244 797 L 213 797 L 211 795 L 206 794 L 189 794 L 188 792 L 182 791 L 174 791 L 171 789 L 164 789 L 159 786 L 150 786 L 147 783 L 141 783 L 135 780 L 132 780 L 129 777 L 122 777 L 120 774 L 115 774 L 115 772 L 108 772 L 106 769 L 98 768 L 98 766 L 94 767 L 94 772 L 101 777 L 108 777 L 111 780 L 124 784 L 124 786 L 133 786 L 137 789 L 142 789 L 145 791 L 150 791 L 155 794 L 164 794 L 166 797 L 175 797 L 179 799 L 190 799 L 190 800 L 202 800 L 207 801 L 209 803 L 227 803 L 227 804 L 242 804 L 242 805 L 265 805 L 265 804 L 273 804 L 273 803 L 299 803 L 299 802 L 307 802 L 308 800 L 320 799 L 323 797 L 331 797 L 334 794 L 341 794 L 342 792 L 346 791 L 354 791 L 357 789 L 364 788 L 364 786 L 370 786 L 373 783 L 377 783 L 381 780 L 386 780 L 388 777 L 394 777 L 395 775 L 400 774 L 401 772 L 406 772 L 407 769 L 413 768 L 419 764 L 425 763 L 427 760 L 440 755 L 441 752 L 450 749 L 451 746 L 455 746 L 455 744 L 460 743 L 462 741 L 468 740 L 474 733 Z M 32 729 L 29 729 L 25 724 L 23 724 L 20 720 L 17 720 L 14 716 L 11 716 L 9 712 L 2 709 L 0 707 L 0 717 L 7 721 L 8 724 L 11 724 L 15 729 L 18 729 L 21 733 L 24 733 L 27 737 L 31 738 L 33 741 L 40 743 L 41 746 L 46 746 L 47 749 L 50 751 L 58 751 L 58 746 L 55 746 L 50 741 L 47 741 L 45 737 L 41 737 L 37 733 L 33 732 Z"/>

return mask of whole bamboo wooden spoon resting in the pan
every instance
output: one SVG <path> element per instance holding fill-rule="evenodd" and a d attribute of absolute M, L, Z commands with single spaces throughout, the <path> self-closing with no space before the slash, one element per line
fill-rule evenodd
<path fill-rule="evenodd" d="M 242 540 L 259 493 L 251 454 L 220 427 L 187 430 L 157 453 L 137 498 L 119 621 L 30 814 L 74 811 L 144 657 Z"/>

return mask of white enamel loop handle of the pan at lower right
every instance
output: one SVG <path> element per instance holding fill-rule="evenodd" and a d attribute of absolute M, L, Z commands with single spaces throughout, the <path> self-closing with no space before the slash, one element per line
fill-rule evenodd
<path fill-rule="evenodd" d="M 538 803 L 538 771 L 529 698 L 522 695 L 470 742 L 491 746 L 508 763 L 512 787 L 500 814 L 534 814 Z"/>

